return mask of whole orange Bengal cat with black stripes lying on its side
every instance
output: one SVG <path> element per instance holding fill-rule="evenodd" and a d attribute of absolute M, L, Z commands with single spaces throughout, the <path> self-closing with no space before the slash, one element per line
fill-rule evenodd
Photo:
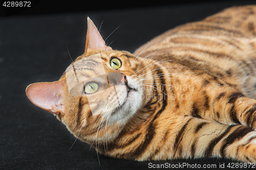
<path fill-rule="evenodd" d="M 88 17 L 84 54 L 26 94 L 108 157 L 255 163 L 255 66 L 256 6 L 176 27 L 133 54 L 106 45 Z"/>

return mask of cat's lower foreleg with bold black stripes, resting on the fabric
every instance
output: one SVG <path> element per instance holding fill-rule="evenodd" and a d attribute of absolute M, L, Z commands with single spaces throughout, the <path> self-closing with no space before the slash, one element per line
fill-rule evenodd
<path fill-rule="evenodd" d="M 177 132 L 174 158 L 220 157 L 256 162 L 256 132 L 243 125 L 223 125 L 189 118 Z"/>

